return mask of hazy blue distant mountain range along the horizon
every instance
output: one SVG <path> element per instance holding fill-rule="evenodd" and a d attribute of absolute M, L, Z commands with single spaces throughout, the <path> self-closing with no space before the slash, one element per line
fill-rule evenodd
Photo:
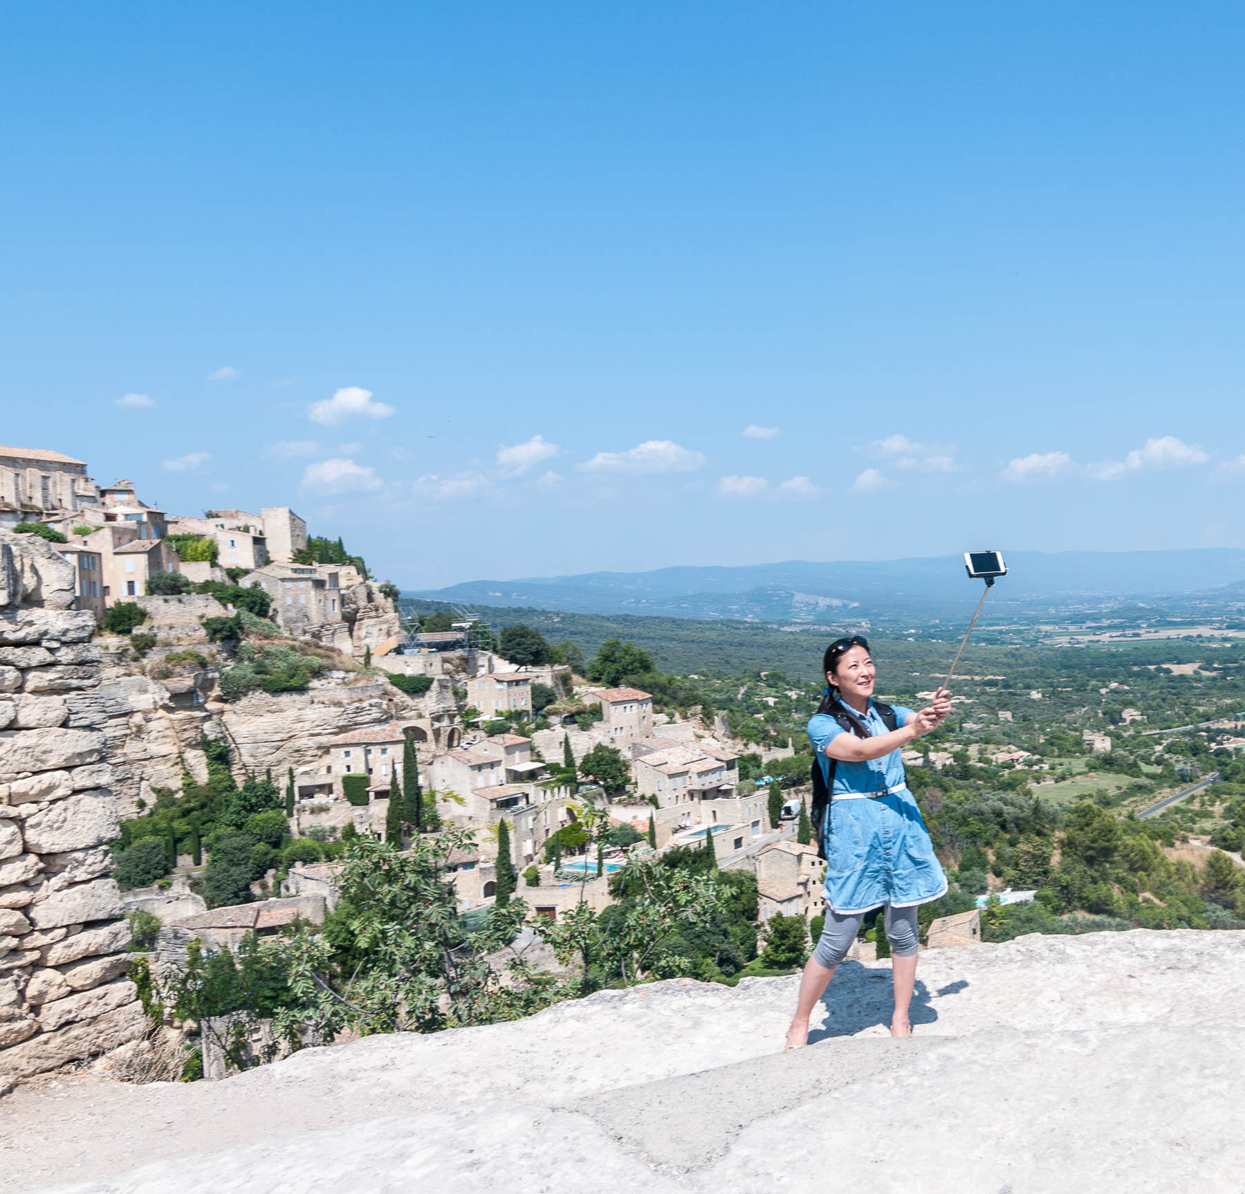
<path fill-rule="evenodd" d="M 1008 552 L 1010 574 L 991 598 L 996 616 L 1036 606 L 1093 606 L 1206 593 L 1245 584 L 1245 550 Z M 840 625 L 955 616 L 976 598 L 960 557 L 660 568 L 520 580 L 472 580 L 408 593 L 471 606 L 520 605 L 583 614 L 731 618 Z M 1226 594 L 1225 594 L 1226 595 Z"/>

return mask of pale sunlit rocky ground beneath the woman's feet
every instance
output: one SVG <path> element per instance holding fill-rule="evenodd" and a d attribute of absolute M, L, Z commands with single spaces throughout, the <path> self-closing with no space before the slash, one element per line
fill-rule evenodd
<path fill-rule="evenodd" d="M 308 1050 L 220 1083 L 0 1101 L 0 1190 L 1245 1190 L 1245 934 L 1025 938 L 794 979 L 603 992 L 525 1021 Z"/>

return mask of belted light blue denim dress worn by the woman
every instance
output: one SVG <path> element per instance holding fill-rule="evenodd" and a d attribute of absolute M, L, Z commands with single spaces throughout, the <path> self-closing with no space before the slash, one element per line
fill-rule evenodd
<path fill-rule="evenodd" d="M 894 710 L 901 726 L 914 716 L 899 705 Z M 872 735 L 889 732 L 873 701 L 860 720 Z M 840 733 L 847 731 L 825 713 L 808 723 L 808 741 L 827 777 L 825 745 Z M 888 794 L 867 798 L 870 792 Z M 863 763 L 837 761 L 825 816 L 825 901 L 834 911 L 867 913 L 884 904 L 911 908 L 946 894 L 946 877 L 908 791 L 899 751 Z"/>

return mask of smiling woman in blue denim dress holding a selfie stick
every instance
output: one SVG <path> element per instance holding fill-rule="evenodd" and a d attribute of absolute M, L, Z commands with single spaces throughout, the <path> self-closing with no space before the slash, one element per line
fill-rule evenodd
<path fill-rule="evenodd" d="M 900 751 L 934 730 L 951 701 L 944 689 L 919 713 L 873 700 L 875 670 L 859 635 L 825 650 L 828 689 L 808 723 L 829 807 L 817 799 L 813 832 L 825 857 L 825 929 L 799 982 L 787 1048 L 808 1043 L 808 1017 L 847 956 L 865 913 L 885 908 L 895 1012 L 891 1036 L 911 1036 L 908 1007 L 916 981 L 916 909 L 946 891 L 946 878 L 908 791 Z M 819 804 L 822 808 L 819 808 Z M 820 814 L 824 809 L 824 814 Z M 819 816 L 820 814 L 820 816 Z"/>

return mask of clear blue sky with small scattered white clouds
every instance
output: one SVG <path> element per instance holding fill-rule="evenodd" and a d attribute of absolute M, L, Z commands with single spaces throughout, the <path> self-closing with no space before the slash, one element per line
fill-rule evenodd
<path fill-rule="evenodd" d="M 1240 547 L 1245 10 L 15 5 L 0 442 L 407 589 Z"/>

